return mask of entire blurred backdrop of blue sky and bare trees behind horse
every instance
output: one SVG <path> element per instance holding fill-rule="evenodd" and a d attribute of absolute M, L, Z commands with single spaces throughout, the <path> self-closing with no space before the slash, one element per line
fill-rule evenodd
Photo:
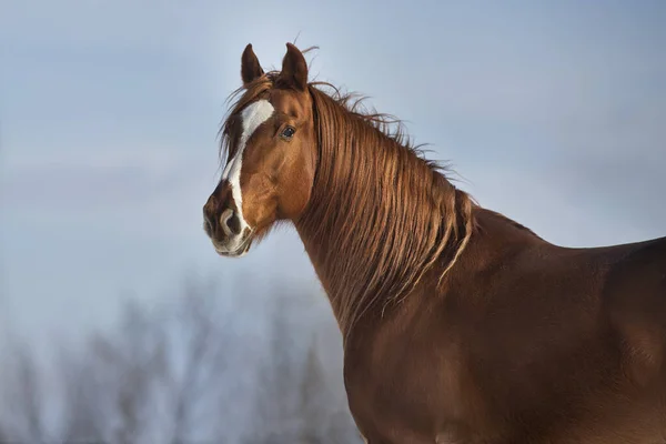
<path fill-rule="evenodd" d="M 355 443 L 292 229 L 201 208 L 246 43 L 406 120 L 546 240 L 666 235 L 666 3 L 0 1 L 0 442 Z"/>

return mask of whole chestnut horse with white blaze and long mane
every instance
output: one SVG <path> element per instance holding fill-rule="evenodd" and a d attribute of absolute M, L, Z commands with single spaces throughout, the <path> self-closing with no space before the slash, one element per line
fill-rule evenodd
<path fill-rule="evenodd" d="M 294 46 L 279 72 L 241 61 L 204 229 L 238 258 L 293 223 L 366 442 L 666 443 L 666 238 L 554 245 L 309 82 Z"/>

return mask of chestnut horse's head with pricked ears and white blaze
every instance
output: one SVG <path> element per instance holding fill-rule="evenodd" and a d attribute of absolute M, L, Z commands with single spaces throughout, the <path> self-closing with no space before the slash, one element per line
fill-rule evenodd
<path fill-rule="evenodd" d="M 223 130 L 226 165 L 203 206 L 215 251 L 241 256 L 280 220 L 297 219 L 309 203 L 316 164 L 307 64 L 286 44 L 282 71 L 264 73 L 252 46 L 241 59 L 244 93 Z"/>

